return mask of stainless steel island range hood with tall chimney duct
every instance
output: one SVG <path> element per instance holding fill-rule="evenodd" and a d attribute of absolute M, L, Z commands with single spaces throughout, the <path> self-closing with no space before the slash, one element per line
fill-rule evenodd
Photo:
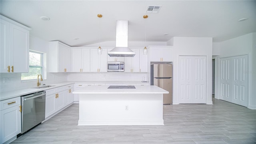
<path fill-rule="evenodd" d="M 128 20 L 116 21 L 116 47 L 108 52 L 111 57 L 134 57 L 135 52 L 128 48 Z"/>

